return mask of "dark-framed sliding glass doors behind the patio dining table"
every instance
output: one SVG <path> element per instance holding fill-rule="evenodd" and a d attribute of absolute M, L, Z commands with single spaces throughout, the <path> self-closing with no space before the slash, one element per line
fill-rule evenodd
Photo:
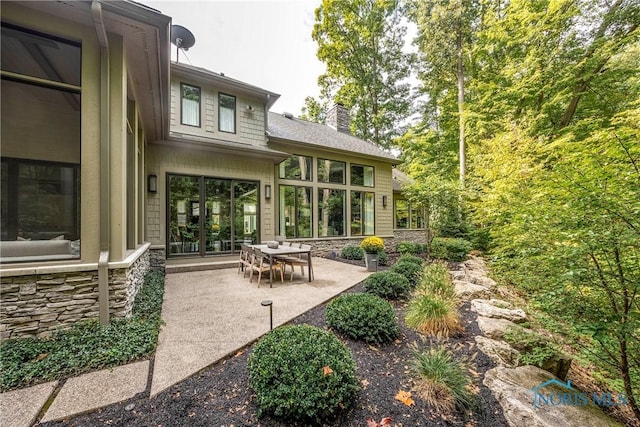
<path fill-rule="evenodd" d="M 168 177 L 169 256 L 229 254 L 257 243 L 258 182 Z"/>

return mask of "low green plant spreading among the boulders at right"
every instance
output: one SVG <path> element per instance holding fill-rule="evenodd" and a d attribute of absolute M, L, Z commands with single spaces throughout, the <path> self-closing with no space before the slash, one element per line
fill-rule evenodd
<path fill-rule="evenodd" d="M 509 328 L 504 339 L 520 352 L 518 361 L 521 365 L 545 367 L 545 362 L 557 357 L 560 346 L 548 337 L 524 328 Z"/>

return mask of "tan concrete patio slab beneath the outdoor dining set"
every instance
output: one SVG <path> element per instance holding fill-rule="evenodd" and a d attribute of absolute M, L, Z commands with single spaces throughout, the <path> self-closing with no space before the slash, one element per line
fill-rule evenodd
<path fill-rule="evenodd" d="M 313 258 L 314 280 L 249 283 L 237 268 L 167 274 L 162 327 L 153 367 L 151 396 L 233 354 L 282 325 L 364 280 L 364 266 Z"/>

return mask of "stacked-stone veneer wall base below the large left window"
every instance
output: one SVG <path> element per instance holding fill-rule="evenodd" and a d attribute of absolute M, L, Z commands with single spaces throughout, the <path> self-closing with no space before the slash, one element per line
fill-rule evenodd
<path fill-rule="evenodd" d="M 109 315 L 131 314 L 150 269 L 149 251 L 129 268 L 109 270 Z M 83 320 L 97 319 L 98 270 L 2 277 L 0 338 L 49 336 Z"/>

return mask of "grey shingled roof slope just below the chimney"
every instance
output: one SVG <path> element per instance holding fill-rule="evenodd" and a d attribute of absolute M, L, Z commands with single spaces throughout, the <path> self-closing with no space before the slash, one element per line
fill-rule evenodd
<path fill-rule="evenodd" d="M 290 117 L 290 115 L 287 116 Z M 340 151 L 345 154 L 355 153 L 393 164 L 400 163 L 400 160 L 394 155 L 375 144 L 353 135 L 338 132 L 321 123 L 287 116 L 269 112 L 268 138 L 270 141 L 306 145 L 312 148 Z"/>

